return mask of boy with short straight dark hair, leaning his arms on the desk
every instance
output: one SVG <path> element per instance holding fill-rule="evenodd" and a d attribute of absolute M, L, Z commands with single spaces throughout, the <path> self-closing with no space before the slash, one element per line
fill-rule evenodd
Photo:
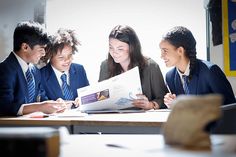
<path fill-rule="evenodd" d="M 43 101 L 47 97 L 41 86 L 40 71 L 34 66 L 45 55 L 48 41 L 39 23 L 21 22 L 15 28 L 14 51 L 0 63 L 0 115 L 54 113 L 65 109 L 63 102 Z"/>

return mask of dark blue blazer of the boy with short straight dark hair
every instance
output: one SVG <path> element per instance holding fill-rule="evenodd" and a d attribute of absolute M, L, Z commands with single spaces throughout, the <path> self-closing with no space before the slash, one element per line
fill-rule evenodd
<path fill-rule="evenodd" d="M 40 71 L 32 68 L 35 80 L 35 98 L 47 100 L 41 86 Z M 0 115 L 17 115 L 22 104 L 28 103 L 28 89 L 22 68 L 13 52 L 0 63 Z"/>

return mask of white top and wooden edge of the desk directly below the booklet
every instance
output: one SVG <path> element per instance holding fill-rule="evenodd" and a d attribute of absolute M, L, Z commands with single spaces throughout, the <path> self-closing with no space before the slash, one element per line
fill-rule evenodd
<path fill-rule="evenodd" d="M 103 126 L 161 126 L 166 122 L 169 112 L 147 111 L 141 113 L 89 114 L 81 118 L 71 118 L 74 125 Z"/>

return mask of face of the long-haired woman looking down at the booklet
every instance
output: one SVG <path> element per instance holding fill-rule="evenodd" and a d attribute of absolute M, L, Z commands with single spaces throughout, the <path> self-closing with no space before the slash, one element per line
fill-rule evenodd
<path fill-rule="evenodd" d="M 110 38 L 109 39 L 109 53 L 112 56 L 114 62 L 121 64 L 124 68 L 128 68 L 130 63 L 129 45 L 120 40 Z"/>

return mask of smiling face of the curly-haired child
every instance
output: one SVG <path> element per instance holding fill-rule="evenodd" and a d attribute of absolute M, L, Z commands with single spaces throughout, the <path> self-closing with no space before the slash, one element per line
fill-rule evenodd
<path fill-rule="evenodd" d="M 54 68 L 61 72 L 64 72 L 70 69 L 72 59 L 72 47 L 69 45 L 65 45 L 61 51 L 58 50 L 57 53 L 52 56 L 50 62 Z"/>

